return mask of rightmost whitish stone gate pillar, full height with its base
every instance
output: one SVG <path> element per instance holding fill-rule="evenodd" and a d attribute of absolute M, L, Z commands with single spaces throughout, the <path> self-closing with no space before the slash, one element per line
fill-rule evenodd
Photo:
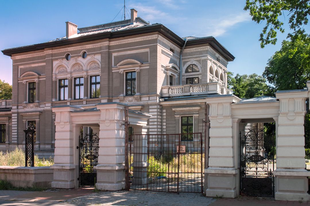
<path fill-rule="evenodd" d="M 278 91 L 279 117 L 277 126 L 276 200 L 308 201 L 308 179 L 305 169 L 304 115 L 306 113 L 307 90 Z"/>

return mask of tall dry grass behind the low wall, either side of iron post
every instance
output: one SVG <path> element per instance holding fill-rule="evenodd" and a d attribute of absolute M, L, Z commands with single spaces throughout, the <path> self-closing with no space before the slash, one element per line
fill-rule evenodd
<path fill-rule="evenodd" d="M 39 159 L 38 155 L 34 156 L 34 166 L 51 166 L 54 164 L 54 159 L 52 157 L 48 159 Z M 0 165 L 1 166 L 25 166 L 25 153 L 24 151 L 16 148 L 12 152 L 0 152 Z"/>

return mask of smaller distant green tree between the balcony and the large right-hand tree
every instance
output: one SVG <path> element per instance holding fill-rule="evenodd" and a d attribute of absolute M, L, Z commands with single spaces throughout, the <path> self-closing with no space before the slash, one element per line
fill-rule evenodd
<path fill-rule="evenodd" d="M 232 77 L 232 73 L 228 74 L 228 88 L 233 90 L 233 94 L 243 99 L 249 99 L 259 96 L 273 96 L 273 88 L 267 85 L 266 79 L 261 75 L 236 74 Z"/>

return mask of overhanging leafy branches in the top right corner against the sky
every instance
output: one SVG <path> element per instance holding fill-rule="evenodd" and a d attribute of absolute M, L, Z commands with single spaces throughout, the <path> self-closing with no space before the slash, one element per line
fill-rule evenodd
<path fill-rule="evenodd" d="M 266 22 L 259 41 L 261 48 L 267 44 L 276 44 L 277 31 L 284 33 L 284 22 L 281 15 L 289 16 L 288 24 L 293 33 L 288 33 L 291 40 L 302 35 L 306 37 L 304 26 L 308 24 L 310 15 L 309 0 L 246 0 L 245 11 L 250 11 L 252 20 L 260 24 Z"/>

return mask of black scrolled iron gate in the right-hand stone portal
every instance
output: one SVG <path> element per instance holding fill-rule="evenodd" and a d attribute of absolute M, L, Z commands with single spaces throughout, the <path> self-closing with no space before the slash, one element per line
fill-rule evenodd
<path fill-rule="evenodd" d="M 274 196 L 275 140 L 262 129 L 240 132 L 241 195 Z"/>

